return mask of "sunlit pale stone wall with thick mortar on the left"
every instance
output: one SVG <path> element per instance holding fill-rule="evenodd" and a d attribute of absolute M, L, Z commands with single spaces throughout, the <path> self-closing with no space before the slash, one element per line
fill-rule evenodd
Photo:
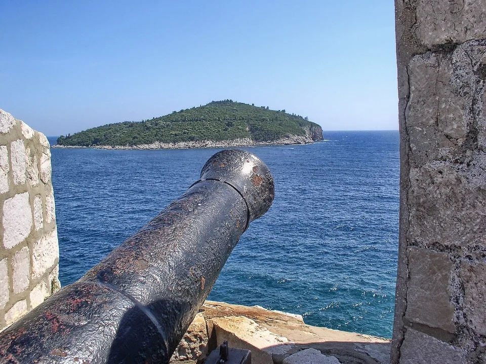
<path fill-rule="evenodd" d="M 0 330 L 59 289 L 51 151 L 0 109 Z"/>

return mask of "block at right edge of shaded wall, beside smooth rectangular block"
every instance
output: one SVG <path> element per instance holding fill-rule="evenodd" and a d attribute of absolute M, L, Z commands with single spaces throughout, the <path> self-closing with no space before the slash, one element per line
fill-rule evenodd
<path fill-rule="evenodd" d="M 468 324 L 486 336 L 486 264 L 461 262 L 460 278 L 464 287 L 464 313 Z"/>

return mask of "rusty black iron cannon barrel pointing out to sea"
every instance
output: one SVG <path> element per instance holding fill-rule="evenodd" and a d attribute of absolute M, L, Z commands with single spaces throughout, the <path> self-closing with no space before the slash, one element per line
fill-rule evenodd
<path fill-rule="evenodd" d="M 253 154 L 224 150 L 139 232 L 0 334 L 0 362 L 167 363 L 248 224 L 274 197 Z"/>

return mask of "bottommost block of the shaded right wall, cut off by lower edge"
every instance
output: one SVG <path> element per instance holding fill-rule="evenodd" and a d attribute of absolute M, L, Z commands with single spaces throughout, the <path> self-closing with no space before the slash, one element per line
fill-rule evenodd
<path fill-rule="evenodd" d="M 400 364 L 466 364 L 464 352 L 421 332 L 408 329 L 400 351 Z"/>

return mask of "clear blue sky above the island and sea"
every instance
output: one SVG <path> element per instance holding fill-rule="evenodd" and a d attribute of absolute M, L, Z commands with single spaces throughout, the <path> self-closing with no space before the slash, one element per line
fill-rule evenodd
<path fill-rule="evenodd" d="M 1 0 L 0 108 L 47 135 L 212 100 L 397 129 L 390 0 Z"/>

